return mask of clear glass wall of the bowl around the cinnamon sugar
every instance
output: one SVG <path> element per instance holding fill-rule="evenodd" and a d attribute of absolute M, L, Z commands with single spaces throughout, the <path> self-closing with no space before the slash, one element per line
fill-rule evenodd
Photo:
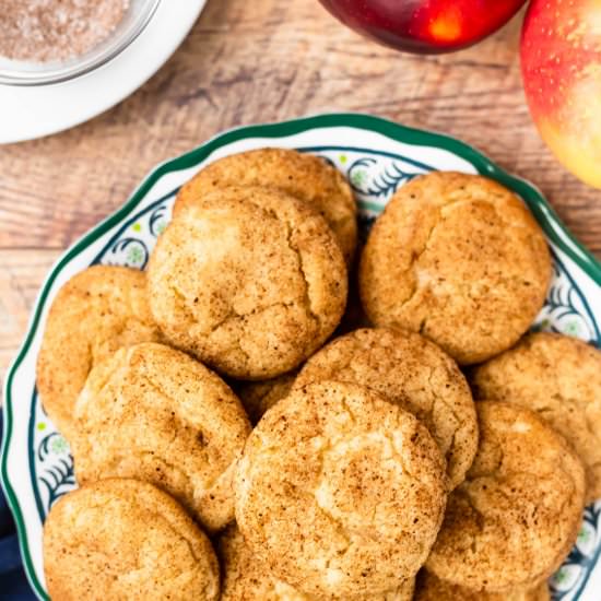
<path fill-rule="evenodd" d="M 31 62 L 0 57 L 0 84 L 48 85 L 79 78 L 121 54 L 146 27 L 161 0 L 130 0 L 114 32 L 97 46 L 60 61 Z"/>

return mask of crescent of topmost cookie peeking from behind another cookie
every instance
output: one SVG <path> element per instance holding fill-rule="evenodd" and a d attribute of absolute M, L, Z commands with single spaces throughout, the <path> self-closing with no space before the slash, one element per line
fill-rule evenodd
<path fill-rule="evenodd" d="M 263 186 L 315 209 L 335 234 L 346 262 L 357 244 L 357 208 L 351 187 L 323 158 L 290 149 L 259 149 L 220 158 L 200 170 L 177 195 L 174 214 L 215 189 Z"/>

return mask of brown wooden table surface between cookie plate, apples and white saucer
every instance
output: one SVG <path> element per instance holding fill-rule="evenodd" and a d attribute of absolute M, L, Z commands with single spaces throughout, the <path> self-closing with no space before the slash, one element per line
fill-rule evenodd
<path fill-rule="evenodd" d="M 531 123 L 520 20 L 474 48 L 425 58 L 361 38 L 316 0 L 209 0 L 130 98 L 70 131 L 0 146 L 0 374 L 59 254 L 156 163 L 238 125 L 356 110 L 447 132 L 537 184 L 601 257 L 601 192 L 563 169 Z"/>

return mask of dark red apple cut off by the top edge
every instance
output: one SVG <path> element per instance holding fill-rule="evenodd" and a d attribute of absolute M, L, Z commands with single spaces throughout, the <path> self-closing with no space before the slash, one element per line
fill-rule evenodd
<path fill-rule="evenodd" d="M 500 28 L 525 0 L 320 0 L 353 30 L 416 54 L 459 50 Z"/>

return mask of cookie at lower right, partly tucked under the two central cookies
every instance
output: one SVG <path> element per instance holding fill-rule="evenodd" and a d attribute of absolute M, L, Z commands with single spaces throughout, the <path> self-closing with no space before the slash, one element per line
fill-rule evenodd
<path fill-rule="evenodd" d="M 478 455 L 449 495 L 426 567 L 474 591 L 531 588 L 557 569 L 576 541 L 585 468 L 534 412 L 499 401 L 476 409 Z"/>

